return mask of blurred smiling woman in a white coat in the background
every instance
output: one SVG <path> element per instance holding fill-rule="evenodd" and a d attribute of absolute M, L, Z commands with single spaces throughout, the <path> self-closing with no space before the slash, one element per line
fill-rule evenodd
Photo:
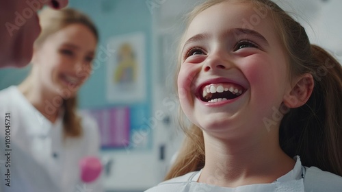
<path fill-rule="evenodd" d="M 79 162 L 98 154 L 99 136 L 95 121 L 77 113 L 77 91 L 92 71 L 97 29 L 70 8 L 43 10 L 40 24 L 31 73 L 0 92 L 0 121 L 8 125 L 0 131 L 6 165 L 0 165 L 0 191 L 102 191 L 99 180 L 81 181 Z"/>

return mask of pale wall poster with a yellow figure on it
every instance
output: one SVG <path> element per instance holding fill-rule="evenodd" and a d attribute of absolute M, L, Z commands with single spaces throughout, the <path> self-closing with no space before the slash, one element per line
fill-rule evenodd
<path fill-rule="evenodd" d="M 107 100 L 112 104 L 134 104 L 146 100 L 145 36 L 142 32 L 114 36 L 114 49 L 107 63 Z"/>

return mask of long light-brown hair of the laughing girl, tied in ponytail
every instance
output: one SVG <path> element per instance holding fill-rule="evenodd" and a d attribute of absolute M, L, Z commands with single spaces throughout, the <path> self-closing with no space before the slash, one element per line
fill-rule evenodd
<path fill-rule="evenodd" d="M 269 12 L 274 31 L 289 61 L 289 77 L 311 73 L 314 88 L 304 106 L 293 108 L 280 122 L 280 147 L 288 156 L 299 155 L 302 165 L 342 176 L 342 69 L 328 52 L 311 45 L 304 27 L 269 0 L 209 0 L 188 15 L 188 24 L 203 10 L 225 1 L 253 3 Z M 184 41 L 184 40 L 183 40 Z M 179 56 L 178 72 L 181 65 Z M 202 130 L 183 128 L 185 141 L 166 180 L 198 171 L 205 165 Z"/>

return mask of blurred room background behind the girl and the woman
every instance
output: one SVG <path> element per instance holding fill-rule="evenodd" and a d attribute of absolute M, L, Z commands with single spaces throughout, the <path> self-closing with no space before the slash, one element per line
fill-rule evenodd
<path fill-rule="evenodd" d="M 69 1 L 100 32 L 94 71 L 79 92 L 79 108 L 96 119 L 101 131 L 105 189 L 144 191 L 163 180 L 181 145 L 176 48 L 184 14 L 201 1 Z M 342 62 L 342 1 L 276 2 L 304 25 L 312 43 Z M 127 58 L 133 75 L 122 71 Z M 20 83 L 29 70 L 1 69 L 0 89 Z"/>

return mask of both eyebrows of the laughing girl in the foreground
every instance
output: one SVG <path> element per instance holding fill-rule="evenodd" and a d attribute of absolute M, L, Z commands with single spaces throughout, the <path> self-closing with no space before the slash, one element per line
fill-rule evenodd
<path fill-rule="evenodd" d="M 265 45 L 269 45 L 268 41 L 266 40 L 266 38 L 264 36 L 262 36 L 261 34 L 259 34 L 259 32 L 256 32 L 252 29 L 247 29 L 247 28 L 234 28 L 234 29 L 229 29 L 226 32 L 224 32 L 220 38 L 224 38 L 226 36 L 231 36 L 233 34 L 233 36 L 235 36 L 235 38 L 238 38 L 239 36 L 243 36 L 243 35 L 248 35 L 248 36 L 253 36 L 254 38 L 257 38 L 259 40 L 261 40 L 262 43 L 265 43 Z M 208 33 L 204 33 L 204 34 L 196 34 L 195 36 L 192 36 L 191 38 L 189 38 L 185 43 L 184 46 L 185 47 L 187 44 L 190 43 L 194 43 L 200 40 L 204 40 L 206 38 L 210 38 L 211 35 Z"/>

